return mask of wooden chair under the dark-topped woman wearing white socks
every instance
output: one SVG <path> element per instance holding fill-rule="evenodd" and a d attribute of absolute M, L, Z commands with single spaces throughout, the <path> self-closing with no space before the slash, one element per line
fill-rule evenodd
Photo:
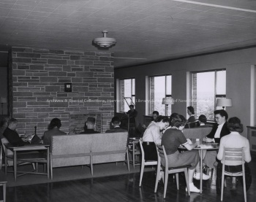
<path fill-rule="evenodd" d="M 189 191 L 189 176 L 187 172 L 187 168 L 191 167 L 191 165 L 186 165 L 186 166 L 179 166 L 179 167 L 170 167 L 168 168 L 168 158 L 165 152 L 165 147 L 163 145 L 157 145 L 157 153 L 158 153 L 158 160 L 157 160 L 157 179 L 156 179 L 156 184 L 154 187 L 154 193 L 157 192 L 157 186 L 158 186 L 158 179 L 159 179 L 159 174 L 160 170 L 162 167 L 162 172 L 164 173 L 164 198 L 166 195 L 166 190 L 167 190 L 167 183 L 168 183 L 168 175 L 169 174 L 176 174 L 176 184 L 177 184 L 177 190 L 178 190 L 178 173 L 184 172 L 185 179 L 186 179 L 186 184 L 187 184 L 187 192 L 190 195 Z M 165 166 L 161 165 L 161 158 L 165 159 Z"/>

